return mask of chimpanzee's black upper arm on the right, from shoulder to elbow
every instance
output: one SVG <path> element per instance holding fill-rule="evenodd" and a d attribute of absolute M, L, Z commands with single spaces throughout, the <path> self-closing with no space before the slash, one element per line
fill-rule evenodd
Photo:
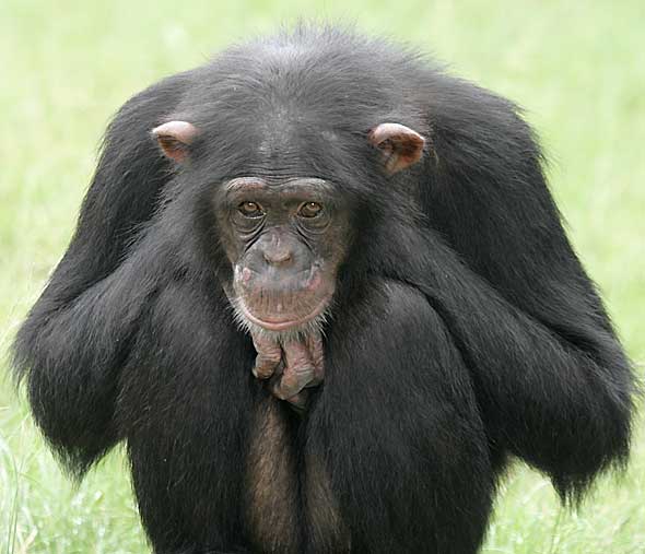
<path fill-rule="evenodd" d="M 432 110 L 436 160 L 421 187 L 430 224 L 521 311 L 580 347 L 611 325 L 566 237 L 542 153 L 517 107 L 447 81 Z"/>

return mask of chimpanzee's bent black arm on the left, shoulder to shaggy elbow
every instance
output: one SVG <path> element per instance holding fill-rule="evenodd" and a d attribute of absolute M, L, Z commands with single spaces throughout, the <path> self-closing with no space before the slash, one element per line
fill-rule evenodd
<path fill-rule="evenodd" d="M 174 108 L 186 79 L 152 86 L 117 114 L 75 234 L 15 340 L 15 374 L 36 421 L 79 473 L 117 440 L 118 368 L 151 293 L 134 260 L 119 264 L 169 179 L 150 129 Z"/>

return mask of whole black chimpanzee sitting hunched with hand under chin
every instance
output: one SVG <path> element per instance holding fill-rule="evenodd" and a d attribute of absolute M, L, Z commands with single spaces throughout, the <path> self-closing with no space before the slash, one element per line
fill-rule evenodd
<path fill-rule="evenodd" d="M 125 441 L 156 553 L 474 553 L 512 459 L 575 503 L 629 450 L 517 107 L 335 28 L 126 103 L 14 353 L 77 478 Z"/>

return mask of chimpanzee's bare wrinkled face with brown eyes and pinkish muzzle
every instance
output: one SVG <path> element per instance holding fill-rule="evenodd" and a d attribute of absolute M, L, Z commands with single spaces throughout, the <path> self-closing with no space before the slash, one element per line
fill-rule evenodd
<path fill-rule="evenodd" d="M 278 333 L 319 326 L 350 236 L 349 209 L 335 186 L 243 177 L 225 182 L 214 204 L 241 325 Z"/>

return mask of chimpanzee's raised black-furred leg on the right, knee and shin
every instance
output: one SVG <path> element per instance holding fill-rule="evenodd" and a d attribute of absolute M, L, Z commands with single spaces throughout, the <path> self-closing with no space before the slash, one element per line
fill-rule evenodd
<path fill-rule="evenodd" d="M 367 287 L 330 328 L 306 459 L 325 460 L 352 552 L 474 552 L 493 475 L 468 370 L 423 294 L 379 278 Z M 337 518 L 309 472 L 314 550 L 344 552 L 325 542 Z"/>

